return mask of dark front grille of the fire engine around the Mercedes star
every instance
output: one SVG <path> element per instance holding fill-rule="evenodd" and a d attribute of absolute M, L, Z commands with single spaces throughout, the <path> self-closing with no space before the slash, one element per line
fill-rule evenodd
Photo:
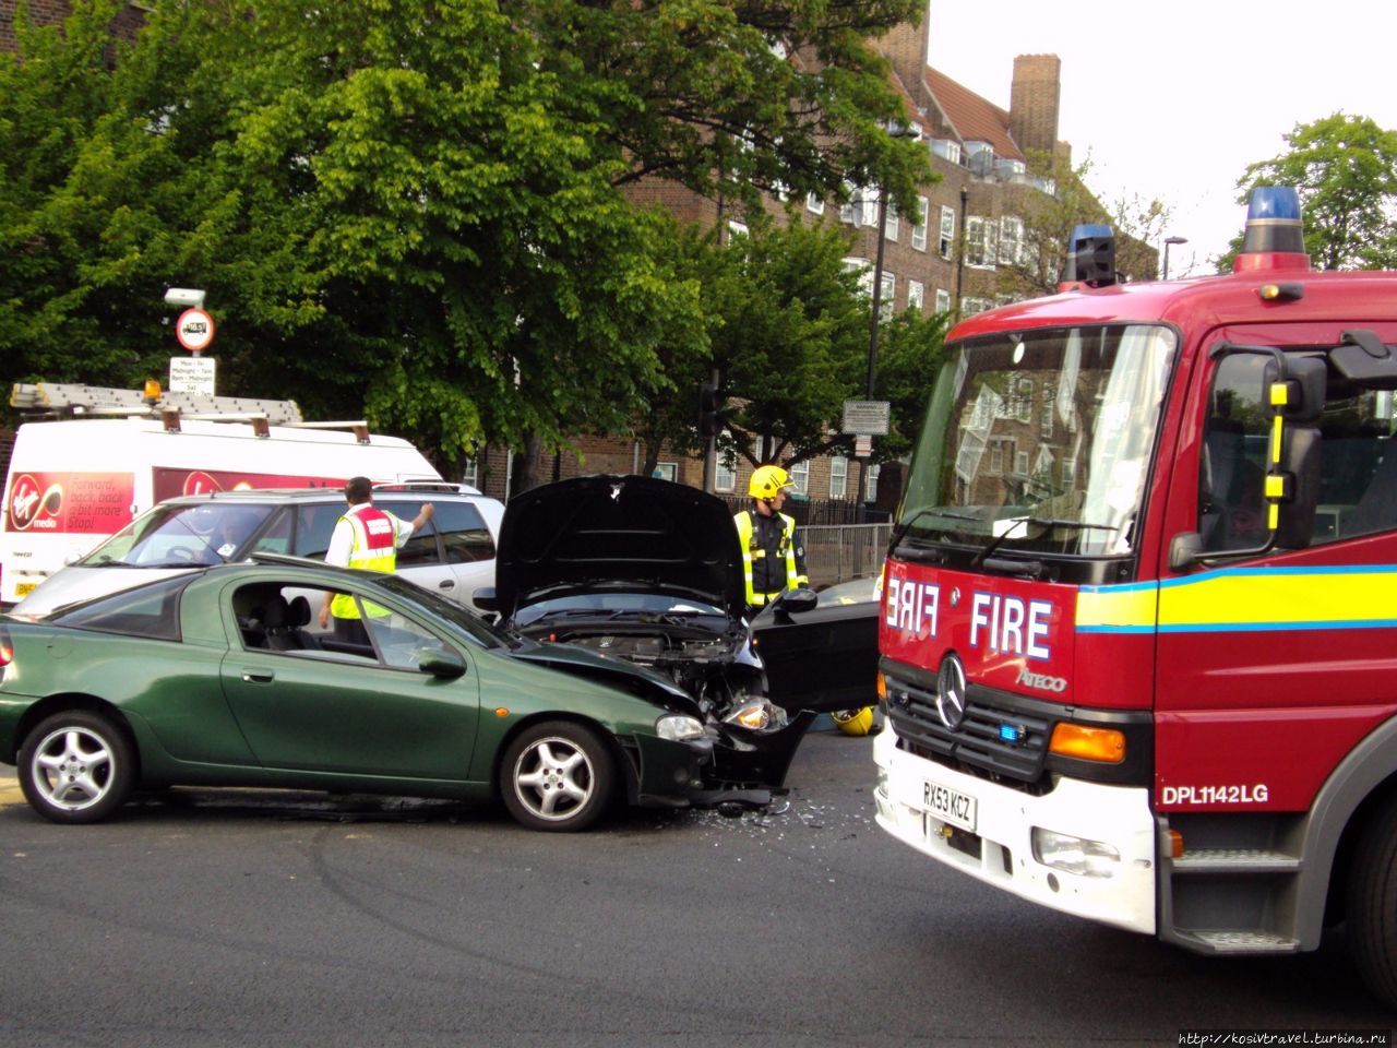
<path fill-rule="evenodd" d="M 911 753 L 985 778 L 1030 785 L 1042 778 L 1052 727 L 1042 714 L 1020 708 L 1010 696 L 971 686 L 965 717 L 951 731 L 936 710 L 935 692 L 884 676 L 888 718 Z"/>

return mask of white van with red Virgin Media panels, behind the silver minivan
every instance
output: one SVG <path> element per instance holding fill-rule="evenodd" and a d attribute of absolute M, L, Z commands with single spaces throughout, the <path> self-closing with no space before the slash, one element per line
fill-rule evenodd
<path fill-rule="evenodd" d="M 314 425 L 314 423 L 312 423 Z M 15 433 L 0 517 L 0 606 L 163 499 L 253 488 L 440 481 L 407 440 L 265 422 L 159 418 L 28 422 Z"/>

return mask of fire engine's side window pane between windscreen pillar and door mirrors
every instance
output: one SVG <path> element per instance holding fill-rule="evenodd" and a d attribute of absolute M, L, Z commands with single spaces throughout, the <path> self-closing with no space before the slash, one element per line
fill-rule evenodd
<path fill-rule="evenodd" d="M 1213 377 L 1199 464 L 1199 534 L 1204 551 L 1249 549 L 1266 542 L 1266 478 L 1270 408 L 1266 358 L 1225 356 Z"/>

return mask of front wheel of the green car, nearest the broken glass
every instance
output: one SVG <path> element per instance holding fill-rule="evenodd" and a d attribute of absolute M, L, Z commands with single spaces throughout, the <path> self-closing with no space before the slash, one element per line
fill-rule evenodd
<path fill-rule="evenodd" d="M 569 721 L 527 728 L 500 763 L 504 806 L 531 830 L 585 830 L 606 810 L 615 783 L 606 743 L 595 731 Z"/>

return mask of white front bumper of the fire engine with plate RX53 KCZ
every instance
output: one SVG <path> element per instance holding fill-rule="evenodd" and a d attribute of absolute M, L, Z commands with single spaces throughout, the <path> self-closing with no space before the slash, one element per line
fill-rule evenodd
<path fill-rule="evenodd" d="M 1031 903 L 1154 935 L 1150 791 L 1059 778 L 1032 796 L 873 741 L 877 823 L 904 844 Z"/>

